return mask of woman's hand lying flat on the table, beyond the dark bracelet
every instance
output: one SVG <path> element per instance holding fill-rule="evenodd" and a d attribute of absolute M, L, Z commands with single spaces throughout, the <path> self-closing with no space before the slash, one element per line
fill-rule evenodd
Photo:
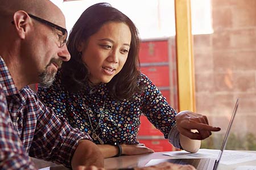
<path fill-rule="evenodd" d="M 148 154 L 154 152 L 151 148 L 146 147 L 144 144 L 138 145 L 121 145 L 123 150 L 123 155 L 139 155 L 139 154 Z"/>

